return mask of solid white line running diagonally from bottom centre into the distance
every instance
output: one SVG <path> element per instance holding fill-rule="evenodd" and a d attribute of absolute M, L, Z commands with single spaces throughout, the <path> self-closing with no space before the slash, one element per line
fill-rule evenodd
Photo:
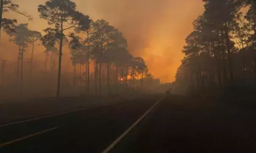
<path fill-rule="evenodd" d="M 128 132 L 130 132 L 162 99 L 158 100 L 149 110 L 143 114 L 132 126 L 129 127 L 120 137 L 118 137 L 110 146 L 108 146 L 102 153 L 108 153 Z"/>

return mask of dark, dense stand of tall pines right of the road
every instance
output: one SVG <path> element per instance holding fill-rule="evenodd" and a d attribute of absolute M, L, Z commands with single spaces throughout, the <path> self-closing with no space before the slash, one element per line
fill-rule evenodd
<path fill-rule="evenodd" d="M 205 11 L 186 38 L 176 82 L 190 89 L 255 86 L 256 1 L 204 2 Z"/>

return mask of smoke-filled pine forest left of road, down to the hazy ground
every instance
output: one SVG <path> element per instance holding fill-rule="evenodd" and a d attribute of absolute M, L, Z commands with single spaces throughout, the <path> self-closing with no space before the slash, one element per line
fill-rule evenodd
<path fill-rule="evenodd" d="M 3 59 L 0 53 L 1 97 L 115 95 L 160 85 L 144 59 L 129 53 L 121 31 L 104 19 L 93 21 L 77 11 L 72 0 L 38 5 L 39 17 L 49 25 L 42 32 L 5 18 L 10 12 L 27 17 L 28 23 L 37 17 L 19 11 L 11 0 L 0 0 L 0 30 L 18 48 L 17 61 Z M 41 61 L 34 59 L 38 46 L 44 47 Z M 63 72 L 64 49 L 69 50 L 72 73 Z M 3 51 L 8 47 L 1 47 Z"/>

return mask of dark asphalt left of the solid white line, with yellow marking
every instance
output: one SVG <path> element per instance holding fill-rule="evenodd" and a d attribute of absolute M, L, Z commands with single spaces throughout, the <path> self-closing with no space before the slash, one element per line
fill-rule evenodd
<path fill-rule="evenodd" d="M 159 98 L 149 96 L 0 126 L 0 153 L 101 153 Z"/>

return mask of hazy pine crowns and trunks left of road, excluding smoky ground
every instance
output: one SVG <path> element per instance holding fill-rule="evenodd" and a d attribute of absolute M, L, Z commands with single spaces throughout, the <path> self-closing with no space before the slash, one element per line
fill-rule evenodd
<path fill-rule="evenodd" d="M 46 77 L 49 60 L 51 70 L 58 67 L 57 97 L 61 89 L 64 46 L 69 47 L 74 66 L 72 84 L 74 88 L 82 86 L 86 89 L 86 94 L 101 95 L 102 88 L 107 90 L 107 94 L 113 94 L 113 88 L 115 88 L 115 94 L 118 94 L 120 88 L 142 87 L 143 80 L 157 81 L 148 74 L 143 58 L 133 57 L 129 53 L 127 40 L 118 29 L 105 20 L 93 21 L 89 16 L 77 11 L 76 4 L 71 0 L 49 0 L 38 6 L 40 18 L 47 20 L 49 24 L 49 27 L 44 29 L 44 35 L 41 32 L 29 30 L 28 24 L 16 25 L 16 19 L 3 19 L 3 13 L 14 11 L 33 20 L 31 16 L 19 12 L 19 5 L 12 3 L 11 0 L 0 0 L 0 4 L 1 29 L 10 36 L 12 42 L 19 46 L 17 85 L 20 85 L 21 94 L 24 53 L 29 44 L 32 45 L 29 80 L 33 77 L 31 74 L 34 46 L 42 45 L 45 48 L 43 78 Z M 78 65 L 80 66 L 79 76 L 76 72 Z M 81 70 L 83 65 L 86 67 L 85 72 Z"/>

